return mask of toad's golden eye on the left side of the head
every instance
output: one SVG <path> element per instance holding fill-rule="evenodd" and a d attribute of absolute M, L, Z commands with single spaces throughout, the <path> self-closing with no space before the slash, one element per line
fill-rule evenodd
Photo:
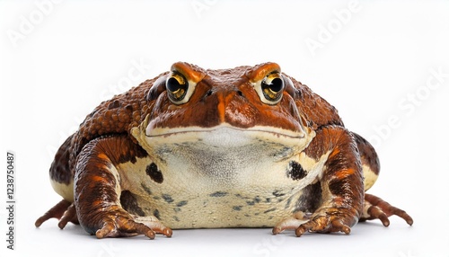
<path fill-rule="evenodd" d="M 182 104 L 189 102 L 189 98 L 194 91 L 194 85 L 190 85 L 186 77 L 177 71 L 173 71 L 171 75 L 167 77 L 165 82 L 167 88 L 167 94 L 174 104 Z"/>

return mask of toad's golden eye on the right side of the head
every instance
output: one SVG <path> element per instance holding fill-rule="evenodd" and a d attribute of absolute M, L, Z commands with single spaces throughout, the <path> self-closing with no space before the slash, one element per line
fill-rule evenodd
<path fill-rule="evenodd" d="M 265 76 L 260 85 L 256 85 L 256 91 L 259 93 L 260 100 L 267 104 L 279 102 L 282 99 L 284 89 L 284 80 L 276 71 Z"/>

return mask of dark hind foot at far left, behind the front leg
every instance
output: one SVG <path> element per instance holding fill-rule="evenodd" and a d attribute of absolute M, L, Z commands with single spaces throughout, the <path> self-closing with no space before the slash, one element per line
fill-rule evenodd
<path fill-rule="evenodd" d="M 75 224 L 79 224 L 78 217 L 76 217 L 75 205 L 66 199 L 61 200 L 53 208 L 50 208 L 42 217 L 38 218 L 34 225 L 40 227 L 42 223 L 48 219 L 56 217 L 59 219 L 57 226 L 63 229 L 70 221 Z"/>

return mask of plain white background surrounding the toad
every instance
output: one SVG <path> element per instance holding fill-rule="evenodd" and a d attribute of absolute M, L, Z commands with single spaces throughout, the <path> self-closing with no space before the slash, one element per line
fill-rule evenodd
<path fill-rule="evenodd" d="M 6 250 L 1 208 L 0 255 L 449 256 L 449 1 L 17 2 L 0 2 L 0 163 L 15 152 L 17 200 L 16 250 Z M 36 229 L 60 199 L 48 181 L 57 146 L 101 101 L 179 60 L 277 62 L 373 142 L 382 171 L 370 192 L 415 224 L 392 217 L 389 228 L 375 221 L 348 236 L 301 238 L 182 230 L 153 241 L 97 240 L 79 226 L 59 230 L 56 220 Z M 5 173 L 0 199 L 5 205 Z"/>

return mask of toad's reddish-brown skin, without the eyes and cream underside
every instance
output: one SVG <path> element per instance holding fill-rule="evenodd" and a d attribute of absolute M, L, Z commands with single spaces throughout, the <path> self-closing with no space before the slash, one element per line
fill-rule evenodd
<path fill-rule="evenodd" d="M 150 120 L 160 119 L 161 126 L 170 127 L 169 118 L 176 116 L 178 124 L 185 126 L 212 127 L 220 122 L 227 122 L 233 126 L 249 128 L 255 124 L 270 124 L 276 115 L 290 115 L 312 128 L 316 136 L 304 153 L 315 160 L 321 155 L 330 152 L 325 164 L 327 170 L 323 173 L 322 181 L 327 186 L 332 196 L 329 203 L 321 205 L 321 208 L 304 209 L 318 213 L 308 222 L 295 227 L 296 235 L 303 235 L 306 231 L 313 232 L 350 232 L 350 226 L 354 226 L 359 218 L 362 220 L 380 218 L 383 225 L 388 226 L 388 216 L 399 215 L 411 225 L 412 220 L 401 209 L 393 208 L 382 199 L 366 195 L 364 200 L 364 185 L 361 165 L 368 165 L 374 173 L 379 172 L 379 163 L 374 149 L 365 139 L 353 134 L 344 128 L 338 112 L 319 95 L 313 93 L 306 85 L 288 77 L 293 84 L 286 86 L 282 101 L 294 104 L 290 108 L 291 113 L 284 113 L 276 106 L 267 106 L 257 99 L 256 93 L 247 82 L 259 79 L 259 76 L 267 74 L 269 69 L 277 65 L 268 64 L 255 67 L 241 66 L 232 70 L 203 70 L 198 66 L 177 64 L 184 69 L 185 75 L 191 80 L 202 81 L 197 85 L 191 102 L 208 101 L 216 102 L 216 110 L 190 109 L 182 112 L 166 114 L 169 111 L 168 100 L 163 83 L 155 84 L 158 77 L 147 80 L 137 87 L 115 96 L 110 101 L 101 102 L 74 135 L 68 137 L 59 148 L 55 160 L 50 167 L 50 177 L 60 183 L 69 184 L 75 181 L 75 203 L 66 200 L 61 201 L 36 222 L 40 226 L 50 217 L 61 218 L 59 226 L 66 226 L 69 221 L 80 222 L 84 229 L 97 237 L 146 235 L 154 238 L 154 233 L 162 233 L 171 236 L 169 228 L 155 226 L 148 227 L 136 223 L 133 218 L 117 204 L 119 195 L 115 191 L 116 178 L 111 175 L 111 166 L 126 162 L 136 162 L 136 158 L 144 157 L 145 150 L 136 143 L 136 139 L 130 136 L 130 129 L 135 128 L 149 115 Z M 233 83 L 235 90 L 216 86 L 210 76 L 226 77 L 230 73 L 242 74 Z M 211 85 L 212 84 L 212 85 Z M 244 97 L 250 101 L 242 100 Z M 197 99 L 196 99 L 197 98 Z M 248 102 L 251 102 L 249 104 Z M 254 103 L 256 102 L 256 103 Z M 239 106 L 233 106 L 239 104 Z M 231 109 L 225 109 L 231 106 Z M 230 111 L 231 110 L 231 111 Z M 248 117 L 247 120 L 238 119 L 238 115 Z M 193 111 L 196 111 L 193 113 Z M 204 111 L 201 112 L 201 111 Z M 285 110 L 284 110 L 285 111 Z M 218 113 L 216 116 L 210 113 Z M 173 112 L 174 113 L 174 112 Z M 195 114 L 195 115 L 193 115 Z M 163 115 L 167 115 L 164 117 Z M 275 116 L 273 116 L 275 115 Z M 195 118 L 196 117 L 196 118 Z M 205 119 L 206 118 L 206 119 Z M 245 121 L 247 121 L 245 123 Z M 287 129 L 295 129 L 291 124 L 280 124 Z M 290 127 L 289 127 L 290 126 Z M 360 152 L 359 152 L 360 151 Z M 362 155 L 362 157 L 360 157 Z M 374 156 L 367 159 L 365 156 Z M 368 214 L 362 213 L 365 206 L 371 206 Z M 284 228 L 274 231 L 279 233 Z"/>

